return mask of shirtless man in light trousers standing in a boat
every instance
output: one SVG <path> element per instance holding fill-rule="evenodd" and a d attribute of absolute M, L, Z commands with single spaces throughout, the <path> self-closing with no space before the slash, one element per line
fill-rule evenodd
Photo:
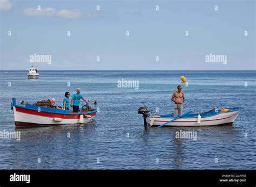
<path fill-rule="evenodd" d="M 181 116 L 183 103 L 185 102 L 185 95 L 184 92 L 181 91 L 181 85 L 178 85 L 177 89 L 178 91 L 174 91 L 171 98 L 171 100 L 174 102 L 174 117 L 177 117 L 177 112 L 179 113 L 178 116 Z"/>

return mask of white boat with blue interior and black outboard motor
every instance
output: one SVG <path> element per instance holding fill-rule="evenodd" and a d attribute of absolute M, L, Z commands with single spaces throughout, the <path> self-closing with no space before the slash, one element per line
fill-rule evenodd
<path fill-rule="evenodd" d="M 242 107 L 227 109 L 214 108 L 207 112 L 191 113 L 187 112 L 180 117 L 172 114 L 151 115 L 147 107 L 140 107 L 138 113 L 143 114 L 144 125 L 150 126 L 213 126 L 213 125 L 232 125 L 235 118 L 241 112 Z"/>

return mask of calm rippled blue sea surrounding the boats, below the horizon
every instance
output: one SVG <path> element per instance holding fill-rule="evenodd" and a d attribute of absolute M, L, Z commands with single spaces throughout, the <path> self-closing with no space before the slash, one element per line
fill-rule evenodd
<path fill-rule="evenodd" d="M 86 99 L 98 100 L 100 112 L 89 124 L 16 129 L 20 141 L 0 139 L 0 169 L 256 169 L 255 71 L 39 71 L 38 80 L 26 73 L 0 71 L 0 131 L 15 131 L 12 97 L 29 103 L 55 98 L 62 105 L 65 91 L 80 88 Z M 145 130 L 138 107 L 171 112 L 181 75 L 189 83 L 183 85 L 184 112 L 245 110 L 232 126 Z M 138 80 L 139 89 L 117 88 L 122 79 Z M 196 131 L 197 140 L 176 139 L 179 130 Z"/>

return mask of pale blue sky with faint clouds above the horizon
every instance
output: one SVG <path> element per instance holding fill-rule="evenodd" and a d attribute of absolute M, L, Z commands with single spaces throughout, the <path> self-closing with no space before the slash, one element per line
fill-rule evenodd
<path fill-rule="evenodd" d="M 256 69 L 254 0 L 0 0 L 0 14 L 0 70 Z"/>

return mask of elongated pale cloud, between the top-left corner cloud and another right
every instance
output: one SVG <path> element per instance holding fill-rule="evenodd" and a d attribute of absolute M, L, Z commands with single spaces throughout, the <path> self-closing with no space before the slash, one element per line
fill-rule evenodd
<path fill-rule="evenodd" d="M 23 11 L 23 15 L 25 16 L 38 16 L 38 17 L 53 17 L 56 16 L 56 11 L 53 8 L 47 8 L 47 9 L 25 9 Z"/>

